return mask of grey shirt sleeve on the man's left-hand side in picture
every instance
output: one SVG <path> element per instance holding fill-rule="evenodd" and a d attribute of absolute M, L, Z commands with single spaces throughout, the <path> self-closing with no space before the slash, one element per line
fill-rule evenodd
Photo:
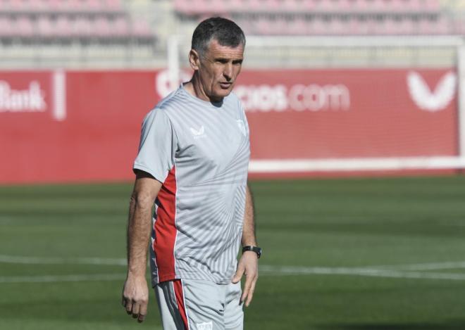
<path fill-rule="evenodd" d="M 132 170 L 151 174 L 164 182 L 174 166 L 176 137 L 166 113 L 155 108 L 144 118 L 140 135 L 139 153 Z"/>

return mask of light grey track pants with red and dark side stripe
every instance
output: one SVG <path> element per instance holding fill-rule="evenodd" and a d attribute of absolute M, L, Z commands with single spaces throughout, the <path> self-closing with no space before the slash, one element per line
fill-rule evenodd
<path fill-rule="evenodd" d="M 155 286 L 164 330 L 242 330 L 244 312 L 237 284 L 175 279 Z"/>

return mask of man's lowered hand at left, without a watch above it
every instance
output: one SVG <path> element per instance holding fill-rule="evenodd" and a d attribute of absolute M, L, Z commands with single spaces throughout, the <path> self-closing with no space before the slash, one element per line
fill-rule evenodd
<path fill-rule="evenodd" d="M 123 287 L 123 307 L 137 322 L 144 321 L 149 304 L 149 288 L 145 276 L 128 274 Z"/>

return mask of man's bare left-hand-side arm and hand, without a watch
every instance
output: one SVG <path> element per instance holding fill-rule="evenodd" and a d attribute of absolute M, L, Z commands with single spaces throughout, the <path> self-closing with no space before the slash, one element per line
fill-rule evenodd
<path fill-rule="evenodd" d="M 161 189 L 161 182 L 138 171 L 129 205 L 128 274 L 123 287 L 123 306 L 128 314 L 144 321 L 149 303 L 145 272 L 147 247 L 151 232 L 151 209 Z"/>

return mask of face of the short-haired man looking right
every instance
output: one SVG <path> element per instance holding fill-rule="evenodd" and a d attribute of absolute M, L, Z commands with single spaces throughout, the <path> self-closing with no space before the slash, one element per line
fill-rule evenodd
<path fill-rule="evenodd" d="M 197 60 L 197 71 L 203 93 L 209 101 L 221 101 L 233 90 L 242 68 L 244 46 L 221 46 L 213 39 L 209 48 Z M 194 68 L 196 70 L 196 68 Z"/>

